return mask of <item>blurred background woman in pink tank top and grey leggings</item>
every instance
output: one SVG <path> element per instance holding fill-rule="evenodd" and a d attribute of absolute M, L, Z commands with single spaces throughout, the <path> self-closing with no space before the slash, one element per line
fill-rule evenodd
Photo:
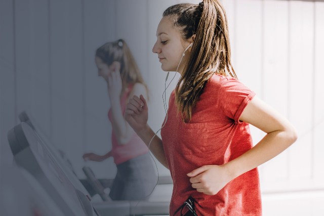
<path fill-rule="evenodd" d="M 147 87 L 125 40 L 107 42 L 96 51 L 98 75 L 107 82 L 112 124 L 112 149 L 105 155 L 84 154 L 85 160 L 114 158 L 117 174 L 110 188 L 112 200 L 147 199 L 157 178 L 147 146 L 124 119 L 129 98 L 144 95 Z"/>

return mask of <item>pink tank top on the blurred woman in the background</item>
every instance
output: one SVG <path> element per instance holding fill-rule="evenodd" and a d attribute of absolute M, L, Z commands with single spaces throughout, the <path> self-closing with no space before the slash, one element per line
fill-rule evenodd
<path fill-rule="evenodd" d="M 123 113 L 123 115 L 126 110 L 127 99 L 129 97 L 133 87 L 134 87 L 134 84 L 130 84 L 129 87 L 127 88 L 127 90 L 125 91 L 124 95 L 120 99 L 120 107 L 121 107 L 121 112 Z M 112 122 L 111 108 L 108 111 L 108 118 L 109 118 L 110 122 Z M 147 146 L 135 132 L 134 132 L 131 140 L 127 144 L 118 145 L 118 141 L 117 141 L 114 129 L 112 129 L 111 143 L 112 143 L 111 153 L 112 153 L 112 157 L 114 159 L 115 164 L 123 163 L 125 161 L 128 161 L 132 158 L 135 158 L 137 156 L 143 155 L 148 152 Z"/>

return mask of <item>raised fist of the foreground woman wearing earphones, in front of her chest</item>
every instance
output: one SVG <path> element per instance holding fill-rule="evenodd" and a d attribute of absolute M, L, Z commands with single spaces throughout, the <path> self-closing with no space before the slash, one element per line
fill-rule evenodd
<path fill-rule="evenodd" d="M 148 108 L 143 95 L 133 96 L 126 105 L 124 118 L 136 133 L 147 126 Z"/>

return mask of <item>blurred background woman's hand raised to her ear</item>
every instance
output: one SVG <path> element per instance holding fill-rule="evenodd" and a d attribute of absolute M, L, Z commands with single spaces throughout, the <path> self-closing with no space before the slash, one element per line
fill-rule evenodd
<path fill-rule="evenodd" d="M 108 94 L 111 99 L 119 101 L 123 82 L 120 76 L 120 63 L 115 61 L 111 64 L 111 72 L 105 78 L 108 84 Z"/>

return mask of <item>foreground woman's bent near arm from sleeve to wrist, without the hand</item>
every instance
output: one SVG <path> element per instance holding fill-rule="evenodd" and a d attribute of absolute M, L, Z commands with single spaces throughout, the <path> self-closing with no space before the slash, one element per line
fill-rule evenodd
<path fill-rule="evenodd" d="M 277 156 L 297 140 L 293 125 L 258 98 L 247 105 L 239 120 L 248 122 L 267 134 L 251 150 L 226 164 L 232 178 Z"/>

